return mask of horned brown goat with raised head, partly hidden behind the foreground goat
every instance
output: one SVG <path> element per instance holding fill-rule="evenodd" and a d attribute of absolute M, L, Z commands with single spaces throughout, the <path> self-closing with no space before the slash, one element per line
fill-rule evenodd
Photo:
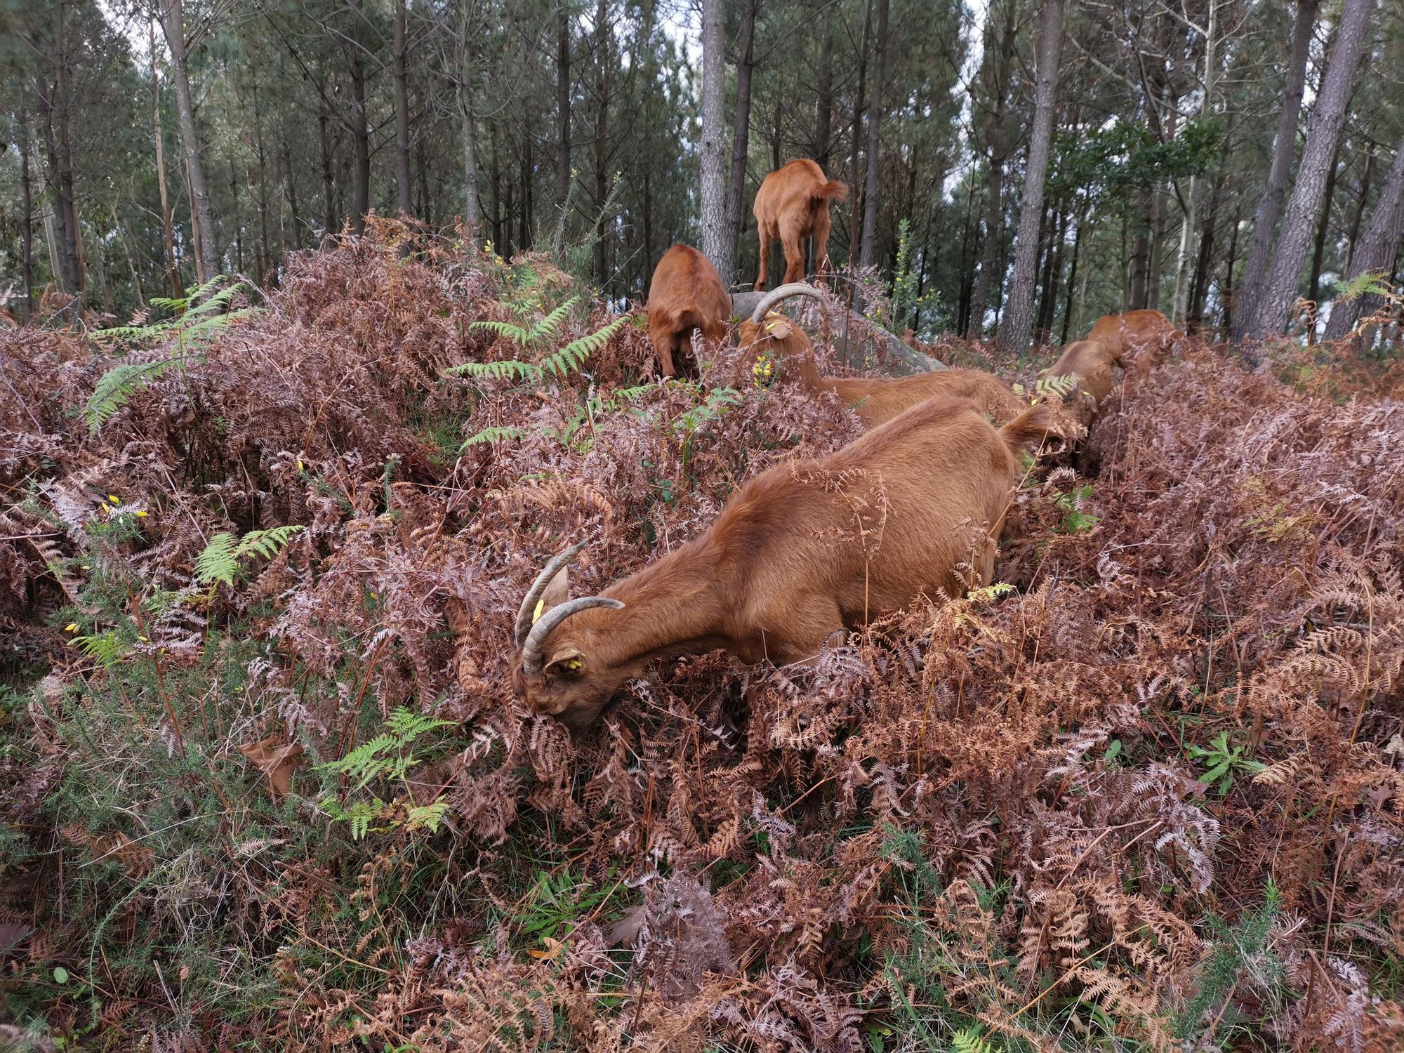
<path fill-rule="evenodd" d="M 803 284 L 782 285 L 768 293 L 755 305 L 751 317 L 741 323 L 740 345 L 750 351 L 743 361 L 753 364 L 764 352 L 769 352 L 781 362 L 782 375 L 793 368 L 806 388 L 834 392 L 854 407 L 869 428 L 886 424 L 913 406 L 942 395 L 967 399 L 997 424 L 1005 424 L 1028 409 L 1004 380 L 979 369 L 936 369 L 915 376 L 820 376 L 814 365 L 814 345 L 809 337 L 783 314 L 771 310 L 789 296 L 813 296 L 820 302 L 824 299 L 819 289 Z"/>

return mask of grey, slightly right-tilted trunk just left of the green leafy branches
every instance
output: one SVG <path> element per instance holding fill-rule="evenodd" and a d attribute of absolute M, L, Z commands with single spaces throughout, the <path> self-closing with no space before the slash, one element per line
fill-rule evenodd
<path fill-rule="evenodd" d="M 1029 164 L 1019 205 L 1019 230 L 1014 256 L 1014 279 L 1009 302 L 1000 319 L 997 340 L 1007 352 L 1022 352 L 1029 345 L 1029 320 L 1033 313 L 1033 268 L 1038 264 L 1039 219 L 1043 213 L 1043 181 L 1053 142 L 1053 100 L 1057 91 L 1059 49 L 1063 44 L 1063 0 L 1043 0 L 1039 34 L 1039 67 L 1033 93 L 1033 129 L 1029 132 Z"/>

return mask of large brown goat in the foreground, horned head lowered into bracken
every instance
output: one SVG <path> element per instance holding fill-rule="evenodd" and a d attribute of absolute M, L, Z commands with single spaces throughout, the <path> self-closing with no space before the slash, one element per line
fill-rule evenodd
<path fill-rule="evenodd" d="M 571 546 L 522 600 L 515 692 L 578 729 L 653 658 L 726 649 L 797 663 L 918 595 L 987 583 L 1016 453 L 1057 431 L 1056 413 L 1043 403 L 995 430 L 966 402 L 924 403 L 835 453 L 762 472 L 699 538 L 602 595 L 566 598 L 584 545 Z"/>

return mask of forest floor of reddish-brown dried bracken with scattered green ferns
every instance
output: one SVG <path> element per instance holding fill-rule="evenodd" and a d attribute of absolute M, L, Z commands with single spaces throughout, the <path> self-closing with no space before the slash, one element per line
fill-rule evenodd
<path fill-rule="evenodd" d="M 545 559 L 602 587 L 856 423 L 403 237 L 0 329 L 0 1046 L 1404 1045 L 1397 357 L 1192 348 L 1001 584 L 573 737 L 511 694 Z"/>

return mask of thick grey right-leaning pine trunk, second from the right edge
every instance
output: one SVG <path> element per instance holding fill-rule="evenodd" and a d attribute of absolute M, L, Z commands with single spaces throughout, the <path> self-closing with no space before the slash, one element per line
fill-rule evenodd
<path fill-rule="evenodd" d="M 1297 281 L 1306 258 L 1307 243 L 1311 239 L 1311 220 L 1316 218 L 1325 192 L 1331 159 L 1341 139 L 1341 125 L 1345 121 L 1345 107 L 1351 95 L 1351 81 L 1359 65 L 1365 29 L 1375 10 L 1375 0 L 1345 0 L 1341 11 L 1341 25 L 1331 46 L 1331 60 L 1321 81 L 1307 124 L 1307 145 L 1302 153 L 1297 181 L 1282 218 L 1282 237 L 1272 257 L 1272 267 L 1262 285 L 1262 295 L 1248 333 L 1257 338 L 1282 333 L 1287 314 L 1296 300 Z"/>

